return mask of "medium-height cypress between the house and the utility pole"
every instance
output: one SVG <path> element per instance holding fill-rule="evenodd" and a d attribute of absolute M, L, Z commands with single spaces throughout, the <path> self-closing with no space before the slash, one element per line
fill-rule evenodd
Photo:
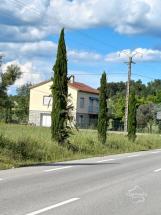
<path fill-rule="evenodd" d="M 98 138 L 102 144 L 106 143 L 107 137 L 107 80 L 104 72 L 101 77 L 99 94 L 99 115 L 98 115 Z"/>

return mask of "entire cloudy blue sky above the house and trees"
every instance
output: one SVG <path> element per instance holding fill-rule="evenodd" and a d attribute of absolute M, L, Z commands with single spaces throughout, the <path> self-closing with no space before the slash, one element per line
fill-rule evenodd
<path fill-rule="evenodd" d="M 109 82 L 126 81 L 127 54 L 136 54 L 132 79 L 160 79 L 160 8 L 160 0 L 1 0 L 2 69 L 15 63 L 23 73 L 10 93 L 53 76 L 62 28 L 76 81 L 98 87 L 103 71 Z"/>

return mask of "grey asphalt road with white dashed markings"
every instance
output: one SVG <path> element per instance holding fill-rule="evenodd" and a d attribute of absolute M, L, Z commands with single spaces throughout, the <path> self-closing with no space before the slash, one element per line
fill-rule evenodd
<path fill-rule="evenodd" d="M 160 215 L 161 150 L 0 171 L 0 215 Z"/>

